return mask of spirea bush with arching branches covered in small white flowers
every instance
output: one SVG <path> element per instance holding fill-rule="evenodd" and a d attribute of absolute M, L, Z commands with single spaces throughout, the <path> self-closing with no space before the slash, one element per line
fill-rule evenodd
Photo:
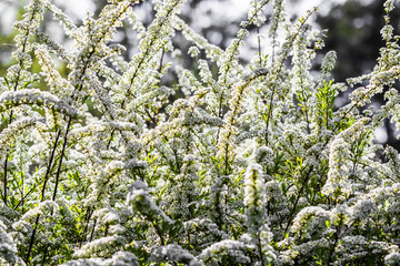
<path fill-rule="evenodd" d="M 180 19 L 184 0 L 154 1 L 150 24 L 138 0 L 80 27 L 48 0 L 26 7 L 0 78 L 1 265 L 400 265 L 400 156 L 373 143 L 384 119 L 400 129 L 393 0 L 377 65 L 346 84 L 333 51 L 313 69 L 314 11 L 291 22 L 282 0 L 250 2 L 227 49 Z M 49 14 L 72 48 L 43 32 Z M 243 65 L 254 27 L 269 31 Z"/>

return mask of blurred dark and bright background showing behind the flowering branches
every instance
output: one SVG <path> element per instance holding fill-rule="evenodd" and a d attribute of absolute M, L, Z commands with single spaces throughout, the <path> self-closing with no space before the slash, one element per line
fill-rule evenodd
<path fill-rule="evenodd" d="M 12 22 L 23 13 L 23 6 L 29 0 L 0 0 L 0 75 L 3 75 L 10 65 L 10 54 L 13 48 Z M 77 24 L 87 16 L 87 11 L 94 14 L 100 12 L 106 0 L 53 0 L 59 8 L 76 21 Z M 148 25 L 152 20 L 153 3 L 147 1 L 134 8 L 137 16 Z M 380 30 L 383 21 L 384 0 L 287 0 L 288 11 L 291 20 L 304 16 L 307 10 L 314 6 L 320 7 L 320 11 L 312 17 L 312 22 L 318 29 L 327 29 L 328 38 L 321 54 L 334 50 L 338 54 L 338 65 L 333 71 L 333 79 L 338 82 L 346 82 L 348 78 L 368 73 L 377 63 L 379 49 L 383 45 Z M 206 37 L 211 43 L 221 48 L 227 48 L 238 31 L 239 22 L 247 18 L 250 0 L 188 0 L 180 17 L 187 21 L 197 32 Z M 266 9 L 267 19 L 272 12 L 271 4 Z M 72 43 L 64 39 L 62 29 L 50 16 L 46 18 L 47 23 L 42 30 L 54 41 L 64 43 L 67 47 Z M 394 34 L 399 34 L 400 9 L 391 13 L 391 22 L 394 27 Z M 254 29 L 249 29 L 251 34 L 241 50 L 241 60 L 249 61 L 257 53 L 258 39 Z M 260 33 L 268 35 L 268 29 L 260 28 Z M 136 50 L 136 33 L 131 29 L 123 29 L 116 35 L 116 42 L 128 47 L 131 54 Z M 183 64 L 187 68 L 194 68 L 192 60 L 186 55 L 184 51 L 191 45 L 183 41 L 179 34 L 174 42 L 181 48 Z M 268 48 L 264 48 L 267 51 Z M 127 59 L 131 54 L 127 54 Z M 316 59 L 316 68 L 319 66 L 320 59 Z M 347 102 L 347 94 L 340 95 L 338 106 Z M 379 108 L 383 102 L 382 94 L 376 96 L 373 105 Z M 400 143 L 396 135 L 400 134 L 389 120 L 384 121 L 384 126 L 376 132 L 376 142 L 390 144 L 400 150 Z"/>

